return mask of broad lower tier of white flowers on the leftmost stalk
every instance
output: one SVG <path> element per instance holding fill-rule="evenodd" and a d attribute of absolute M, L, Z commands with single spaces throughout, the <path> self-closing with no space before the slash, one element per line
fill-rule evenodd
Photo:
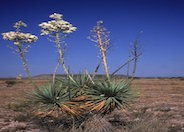
<path fill-rule="evenodd" d="M 14 41 L 15 45 L 21 45 L 24 43 L 32 43 L 38 39 L 37 36 L 32 35 L 30 33 L 21 33 L 21 32 L 14 32 L 14 31 L 2 33 L 2 35 L 3 35 L 3 39 Z"/>

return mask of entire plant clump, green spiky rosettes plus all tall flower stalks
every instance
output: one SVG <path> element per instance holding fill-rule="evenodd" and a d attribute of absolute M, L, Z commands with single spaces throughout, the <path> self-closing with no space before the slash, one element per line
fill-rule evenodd
<path fill-rule="evenodd" d="M 139 36 L 134 41 L 133 47 L 129 50 L 128 61 L 111 74 L 109 73 L 107 63 L 107 53 L 111 47 L 110 32 L 103 26 L 102 21 L 98 21 L 97 26 L 90 31 L 89 39 L 95 42 L 99 48 L 101 54 L 99 64 L 95 68 L 92 76 L 88 72 L 73 76 L 64 61 L 66 49 L 65 39 L 70 33 L 76 31 L 77 28 L 63 20 L 61 14 L 54 13 L 50 15 L 50 18 L 52 20 L 43 22 L 39 24 L 39 26 L 41 27 L 41 35 L 48 36 L 48 39 L 56 44 L 59 60 L 53 73 L 52 83 L 44 87 L 37 86 L 31 80 L 31 74 L 25 59 L 25 51 L 27 51 L 27 47 L 24 47 L 25 43 L 30 44 L 35 42 L 38 38 L 35 35 L 20 32 L 20 27 L 26 26 L 22 21 L 14 25 L 16 32 L 10 31 L 2 34 L 5 40 L 14 42 L 28 77 L 35 86 L 35 89 L 28 96 L 30 104 L 35 105 L 35 114 L 42 118 L 53 117 L 55 119 L 65 115 L 74 121 L 76 119 L 85 120 L 85 117 L 96 114 L 103 116 L 111 113 L 115 109 L 125 109 L 134 97 L 131 82 L 135 76 L 137 59 L 142 54 L 138 49 Z M 133 55 L 132 58 L 130 54 Z M 129 66 L 131 61 L 134 61 L 134 67 L 132 76 L 129 79 Z M 95 77 L 102 63 L 104 64 L 106 78 L 98 80 Z M 67 75 L 65 79 L 56 78 L 60 64 Z M 126 65 L 128 65 L 128 78 L 114 79 L 113 76 Z M 102 122 L 104 122 L 103 119 Z M 108 123 L 106 123 L 106 126 L 109 126 Z M 102 128 L 101 131 L 106 130 Z"/>

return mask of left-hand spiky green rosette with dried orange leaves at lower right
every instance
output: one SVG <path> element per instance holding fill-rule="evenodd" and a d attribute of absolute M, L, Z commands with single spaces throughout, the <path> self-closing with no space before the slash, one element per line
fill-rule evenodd
<path fill-rule="evenodd" d="M 38 87 L 33 90 L 29 97 L 33 103 L 41 107 L 38 115 L 50 116 L 58 110 L 72 116 L 79 115 L 80 110 L 78 110 L 77 105 L 69 101 L 67 93 L 61 87 L 55 87 L 51 84 L 43 88 Z"/>

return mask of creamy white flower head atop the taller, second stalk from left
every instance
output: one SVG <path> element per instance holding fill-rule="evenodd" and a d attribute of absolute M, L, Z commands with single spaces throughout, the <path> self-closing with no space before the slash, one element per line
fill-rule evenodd
<path fill-rule="evenodd" d="M 61 14 L 54 13 L 49 17 L 55 20 L 39 24 L 39 26 L 42 28 L 41 35 L 49 35 L 53 32 L 70 34 L 77 29 L 76 27 L 73 27 L 69 22 L 64 21 Z"/>

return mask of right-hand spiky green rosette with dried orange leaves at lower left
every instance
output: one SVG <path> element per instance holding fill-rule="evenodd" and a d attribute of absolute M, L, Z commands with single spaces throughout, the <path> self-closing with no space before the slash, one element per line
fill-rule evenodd
<path fill-rule="evenodd" d="M 123 81 L 100 81 L 88 89 L 91 99 L 86 103 L 90 111 L 109 113 L 115 108 L 128 106 L 133 93 L 130 83 Z"/>

